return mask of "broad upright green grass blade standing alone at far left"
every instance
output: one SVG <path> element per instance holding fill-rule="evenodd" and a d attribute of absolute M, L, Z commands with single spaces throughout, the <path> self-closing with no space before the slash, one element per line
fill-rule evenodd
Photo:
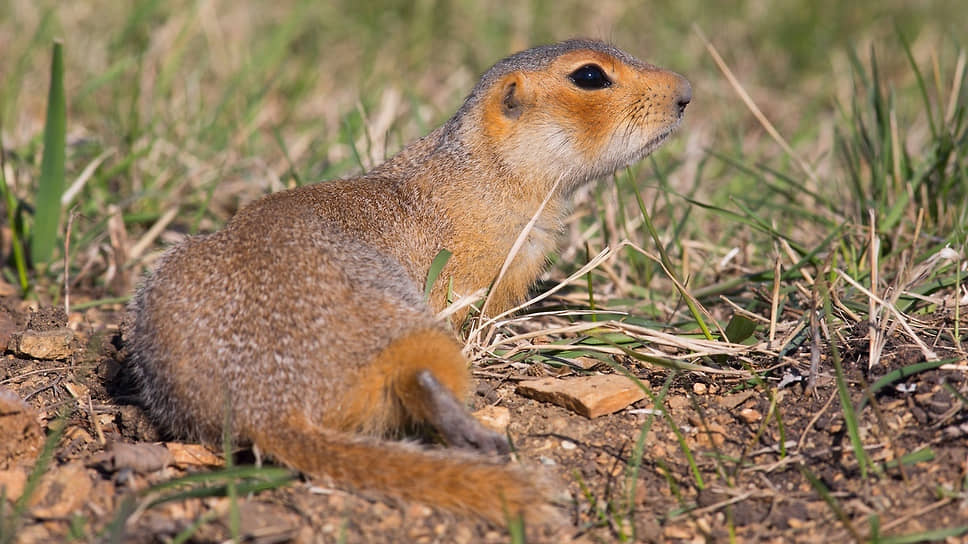
<path fill-rule="evenodd" d="M 67 153 L 67 103 L 64 96 L 64 46 L 54 42 L 50 64 L 50 93 L 44 126 L 44 156 L 40 166 L 34 226 L 30 238 L 30 260 L 46 269 L 60 222 L 60 198 L 64 192 L 64 163 Z"/>

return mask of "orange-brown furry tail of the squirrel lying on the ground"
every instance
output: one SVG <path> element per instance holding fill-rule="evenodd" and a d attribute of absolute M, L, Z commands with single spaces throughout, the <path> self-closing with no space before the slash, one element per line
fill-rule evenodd
<path fill-rule="evenodd" d="M 461 450 L 431 451 L 306 427 L 279 425 L 253 438 L 264 452 L 311 476 L 477 515 L 497 525 L 517 515 L 546 521 L 551 514 L 538 484 L 521 470 Z"/>

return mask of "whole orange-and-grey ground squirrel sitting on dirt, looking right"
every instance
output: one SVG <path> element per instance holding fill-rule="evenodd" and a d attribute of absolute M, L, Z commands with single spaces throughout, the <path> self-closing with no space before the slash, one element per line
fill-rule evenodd
<path fill-rule="evenodd" d="M 488 287 L 547 204 L 489 305 L 520 302 L 566 199 L 655 149 L 691 99 L 680 75 L 598 41 L 512 55 L 457 113 L 371 172 L 272 194 L 170 249 L 129 306 L 140 398 L 170 434 L 239 443 L 310 475 L 501 523 L 541 504 L 462 399 L 467 360 L 435 319 Z M 429 301 L 423 285 L 452 257 Z M 457 449 L 387 440 L 429 424 Z"/>

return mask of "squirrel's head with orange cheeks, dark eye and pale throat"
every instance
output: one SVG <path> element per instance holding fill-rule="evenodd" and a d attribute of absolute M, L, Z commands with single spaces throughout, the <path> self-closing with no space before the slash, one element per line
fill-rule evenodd
<path fill-rule="evenodd" d="M 603 42 L 570 40 L 495 64 L 454 119 L 467 149 L 491 147 L 512 178 L 549 188 L 560 178 L 567 193 L 648 155 L 691 98 L 679 74 Z"/>

